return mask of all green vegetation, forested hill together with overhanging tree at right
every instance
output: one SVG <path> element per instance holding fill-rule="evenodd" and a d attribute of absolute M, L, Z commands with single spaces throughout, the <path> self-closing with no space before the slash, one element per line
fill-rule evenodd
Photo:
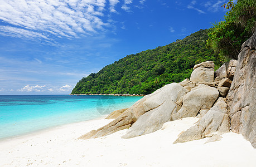
<path fill-rule="evenodd" d="M 256 1 L 229 0 L 223 7 L 230 9 L 225 21 L 210 30 L 128 55 L 82 78 L 71 94 L 150 94 L 163 85 L 189 78 L 197 63 L 213 60 L 218 68 L 223 61 L 236 59 L 243 42 L 255 32 Z"/>

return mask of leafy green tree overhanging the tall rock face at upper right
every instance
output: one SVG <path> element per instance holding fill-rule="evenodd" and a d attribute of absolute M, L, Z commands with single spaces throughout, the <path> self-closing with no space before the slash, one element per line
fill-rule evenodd
<path fill-rule="evenodd" d="M 241 45 L 253 35 L 256 28 L 256 1 L 230 0 L 223 7 L 230 9 L 225 21 L 214 24 L 207 41 L 220 57 L 238 57 Z"/>

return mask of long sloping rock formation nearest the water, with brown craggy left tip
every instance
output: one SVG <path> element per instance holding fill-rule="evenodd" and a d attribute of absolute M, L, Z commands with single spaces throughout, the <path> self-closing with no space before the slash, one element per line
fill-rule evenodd
<path fill-rule="evenodd" d="M 148 134 L 161 129 L 163 123 L 170 121 L 172 112 L 176 112 L 178 109 L 176 101 L 187 92 L 185 88 L 176 83 L 165 85 L 153 94 L 138 100 L 117 119 L 98 130 L 90 131 L 79 139 L 102 137 L 118 130 L 127 129 L 132 124 L 133 126 L 124 138 Z"/>

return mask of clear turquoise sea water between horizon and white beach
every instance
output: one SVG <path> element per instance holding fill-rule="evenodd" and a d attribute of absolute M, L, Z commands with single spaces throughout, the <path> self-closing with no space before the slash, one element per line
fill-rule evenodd
<path fill-rule="evenodd" d="M 141 96 L 0 95 L 0 139 L 95 119 Z"/>

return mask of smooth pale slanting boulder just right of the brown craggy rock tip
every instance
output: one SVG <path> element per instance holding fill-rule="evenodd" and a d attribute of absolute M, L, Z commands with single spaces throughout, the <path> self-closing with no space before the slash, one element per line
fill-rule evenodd
<path fill-rule="evenodd" d="M 165 122 L 170 121 L 172 112 L 176 112 L 176 101 L 186 92 L 186 89 L 176 83 L 162 87 L 158 94 L 144 101 L 144 110 L 148 112 L 139 117 L 123 138 L 141 136 L 161 129 Z"/>

